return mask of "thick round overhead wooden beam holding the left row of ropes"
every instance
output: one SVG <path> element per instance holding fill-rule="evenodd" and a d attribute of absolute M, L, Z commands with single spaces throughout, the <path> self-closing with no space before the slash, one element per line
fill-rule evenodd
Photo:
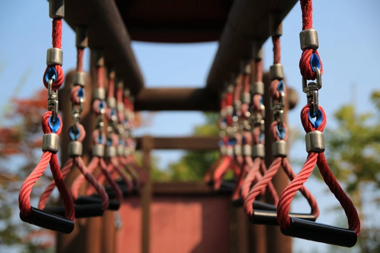
<path fill-rule="evenodd" d="M 88 46 L 102 49 L 105 62 L 112 65 L 119 78 L 136 94 L 144 80 L 131 47 L 131 38 L 115 1 L 65 0 L 65 21 L 73 29 L 88 27 Z M 74 41 L 73 41 L 73 45 Z"/>

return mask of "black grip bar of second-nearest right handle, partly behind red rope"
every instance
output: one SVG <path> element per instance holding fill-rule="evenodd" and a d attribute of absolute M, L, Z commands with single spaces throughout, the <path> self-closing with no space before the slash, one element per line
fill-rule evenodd
<path fill-rule="evenodd" d="M 315 221 L 316 218 L 313 214 L 303 214 L 303 213 L 289 213 L 290 217 L 297 219 Z M 249 219 L 251 223 L 269 225 L 269 226 L 278 226 L 279 221 L 277 221 L 277 211 L 268 211 L 268 210 L 254 210 L 252 217 Z"/>

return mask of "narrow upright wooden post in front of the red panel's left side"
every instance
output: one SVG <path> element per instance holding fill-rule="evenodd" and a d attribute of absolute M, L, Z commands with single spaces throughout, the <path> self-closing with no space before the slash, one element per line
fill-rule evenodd
<path fill-rule="evenodd" d="M 153 149 L 153 138 L 144 136 L 141 140 L 141 151 L 143 159 L 143 170 L 147 173 L 147 182 L 141 190 L 141 207 L 142 207 L 142 253 L 149 253 L 150 240 L 150 202 L 152 198 L 152 182 L 151 182 L 151 160 L 150 152 Z"/>

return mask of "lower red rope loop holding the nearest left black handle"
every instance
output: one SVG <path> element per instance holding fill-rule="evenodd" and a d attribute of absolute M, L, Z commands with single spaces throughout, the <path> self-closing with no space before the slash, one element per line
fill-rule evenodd
<path fill-rule="evenodd" d="M 45 112 L 42 117 L 41 125 L 42 131 L 46 133 L 51 133 L 51 129 L 49 126 L 49 118 L 52 116 L 51 111 Z M 58 115 L 60 121 L 62 122 L 61 117 Z M 62 126 L 58 128 L 56 134 L 61 133 Z M 74 214 L 74 205 L 70 194 L 68 193 L 65 185 L 65 181 L 62 177 L 61 170 L 59 168 L 58 158 L 56 153 L 51 153 L 49 151 L 44 151 L 40 161 L 37 166 L 34 168 L 33 172 L 25 179 L 25 182 L 22 184 L 20 193 L 18 195 L 18 206 L 21 214 L 24 217 L 28 217 L 31 214 L 32 207 L 30 205 L 30 194 L 32 192 L 32 188 L 34 183 L 38 180 L 38 178 L 44 173 L 46 167 L 50 164 L 50 170 L 53 175 L 53 179 L 55 185 L 58 188 L 59 193 L 62 196 L 62 200 L 65 206 L 65 215 L 67 219 L 72 221 L 75 220 Z"/>

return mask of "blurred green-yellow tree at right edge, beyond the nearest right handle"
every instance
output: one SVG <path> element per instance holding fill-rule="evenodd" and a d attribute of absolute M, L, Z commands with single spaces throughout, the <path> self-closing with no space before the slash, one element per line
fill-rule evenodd
<path fill-rule="evenodd" d="M 380 224 L 370 212 L 380 204 L 379 91 L 372 93 L 371 101 L 374 110 L 370 112 L 342 106 L 334 114 L 338 127 L 327 129 L 325 138 L 331 171 L 343 183 L 362 221 L 357 246 L 361 253 L 380 252 Z"/>

